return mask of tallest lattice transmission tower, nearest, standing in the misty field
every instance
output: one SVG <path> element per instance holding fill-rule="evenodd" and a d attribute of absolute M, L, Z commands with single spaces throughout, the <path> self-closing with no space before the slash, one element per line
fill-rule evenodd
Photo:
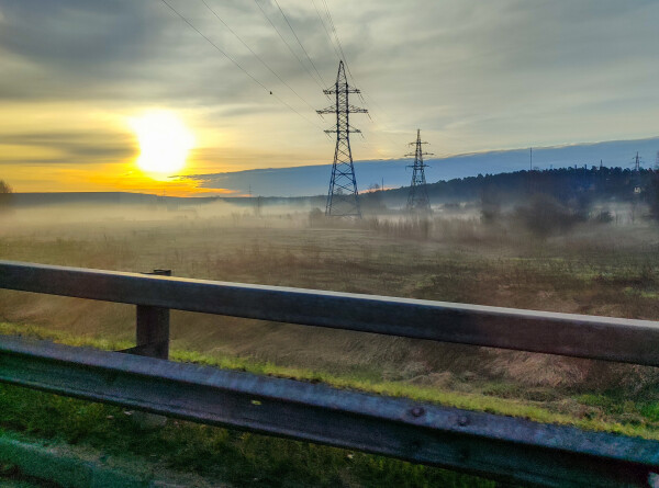
<path fill-rule="evenodd" d="M 336 133 L 336 148 L 334 149 L 334 164 L 332 164 L 332 179 L 330 180 L 325 215 L 361 218 L 359 192 L 357 191 L 353 151 L 350 150 L 350 134 L 360 133 L 361 130 L 350 125 L 350 114 L 367 113 L 368 111 L 350 105 L 349 94 L 359 93 L 359 90 L 348 84 L 343 61 L 338 64 L 336 83 L 334 83 L 334 87 L 323 90 L 323 93 L 335 95 L 336 99 L 332 106 L 317 111 L 320 114 L 336 114 L 336 126 L 325 130 L 327 134 Z"/>

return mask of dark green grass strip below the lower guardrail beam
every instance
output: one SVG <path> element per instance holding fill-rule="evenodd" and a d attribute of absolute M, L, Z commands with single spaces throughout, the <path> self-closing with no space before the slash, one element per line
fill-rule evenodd
<path fill-rule="evenodd" d="M 3 332 L 8 329 L 2 325 Z M 1 429 L 133 462 L 157 462 L 238 487 L 496 486 L 445 469 L 191 422 L 146 428 L 122 408 L 10 385 L 0 385 L 0 435 Z"/>

